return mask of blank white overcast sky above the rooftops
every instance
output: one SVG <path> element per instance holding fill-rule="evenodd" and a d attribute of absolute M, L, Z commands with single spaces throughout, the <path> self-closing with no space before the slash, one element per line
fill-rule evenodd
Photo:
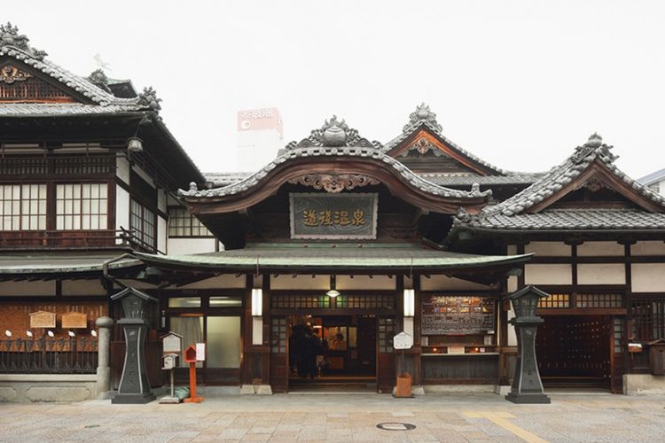
<path fill-rule="evenodd" d="M 276 106 L 285 143 L 332 113 L 397 136 L 425 101 L 450 139 L 544 170 L 598 131 L 634 177 L 665 167 L 662 1 L 24 1 L 4 8 L 76 74 L 152 85 L 204 172 L 236 169 L 236 112 Z"/>

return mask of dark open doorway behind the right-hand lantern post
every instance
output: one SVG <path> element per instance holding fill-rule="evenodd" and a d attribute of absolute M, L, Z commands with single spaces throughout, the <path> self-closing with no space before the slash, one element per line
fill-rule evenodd
<path fill-rule="evenodd" d="M 612 387 L 613 323 L 609 315 L 544 315 L 536 334 L 545 388 Z"/>

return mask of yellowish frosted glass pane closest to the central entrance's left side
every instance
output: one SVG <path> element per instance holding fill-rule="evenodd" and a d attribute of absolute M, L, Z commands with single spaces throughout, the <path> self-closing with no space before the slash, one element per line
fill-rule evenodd
<path fill-rule="evenodd" d="M 207 317 L 208 368 L 240 367 L 240 317 Z"/>

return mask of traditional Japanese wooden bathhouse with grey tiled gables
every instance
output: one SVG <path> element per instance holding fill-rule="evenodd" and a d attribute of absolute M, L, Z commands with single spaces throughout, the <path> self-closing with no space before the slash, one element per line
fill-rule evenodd
<path fill-rule="evenodd" d="M 0 330 L 90 303 L 118 318 L 109 297 L 131 286 L 159 300 L 154 385 L 172 330 L 207 344 L 201 383 L 242 392 L 390 392 L 403 370 L 425 391 L 493 390 L 517 352 L 502 299 L 535 284 L 551 294 L 536 311 L 546 388 L 665 389 L 650 358 L 665 338 L 665 199 L 599 136 L 548 172 L 515 173 L 419 105 L 386 144 L 332 117 L 254 174 L 204 176 L 153 91 L 76 77 L 1 32 Z M 294 371 L 301 328 L 328 343 L 313 380 Z M 400 331 L 414 341 L 403 368 Z"/>

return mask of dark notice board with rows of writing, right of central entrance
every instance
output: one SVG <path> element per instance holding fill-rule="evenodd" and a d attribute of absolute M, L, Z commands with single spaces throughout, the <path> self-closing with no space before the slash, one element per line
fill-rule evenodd
<path fill-rule="evenodd" d="M 422 297 L 423 335 L 491 333 L 495 329 L 495 299 L 489 297 Z"/>

